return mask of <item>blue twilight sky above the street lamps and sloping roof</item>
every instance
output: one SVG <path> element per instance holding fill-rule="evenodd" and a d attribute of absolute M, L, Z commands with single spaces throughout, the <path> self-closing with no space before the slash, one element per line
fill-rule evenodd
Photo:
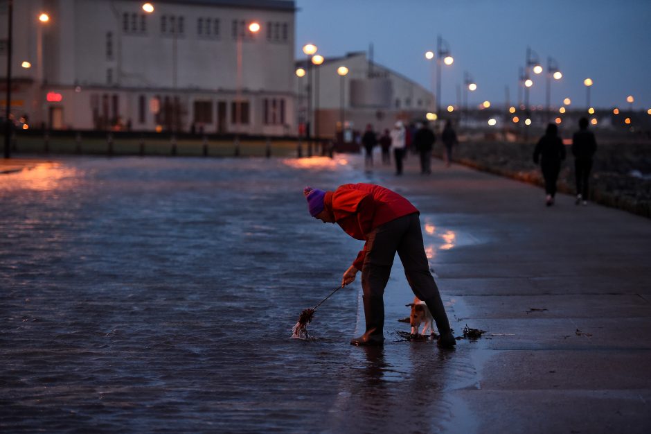
<path fill-rule="evenodd" d="M 553 57 L 563 73 L 551 101 L 585 106 L 583 80 L 594 80 L 591 105 L 651 107 L 651 0 L 296 0 L 296 58 L 312 42 L 335 57 L 366 51 L 375 62 L 432 88 L 425 51 L 440 33 L 454 57 L 444 67 L 442 103 L 456 103 L 456 85 L 467 70 L 478 85 L 469 104 L 517 101 L 518 67 L 526 47 L 546 67 Z M 532 74 L 533 75 L 533 74 Z M 544 77 L 534 76 L 530 103 L 545 103 Z"/>

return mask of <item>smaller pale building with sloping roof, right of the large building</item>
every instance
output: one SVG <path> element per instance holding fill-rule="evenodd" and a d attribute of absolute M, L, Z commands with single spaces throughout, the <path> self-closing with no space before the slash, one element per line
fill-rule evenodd
<path fill-rule="evenodd" d="M 344 78 L 337 73 L 342 66 L 348 68 Z M 376 131 L 390 129 L 399 119 L 405 123 L 420 121 L 425 119 L 427 112 L 436 111 L 431 92 L 413 80 L 369 61 L 364 51 L 348 53 L 340 58 L 326 57 L 318 67 L 310 67 L 307 59 L 297 60 L 296 68 L 307 71 L 303 78 L 298 78 L 298 116 L 301 123 L 307 121 L 311 75 L 314 92 L 309 117 L 312 118 L 312 131 L 319 137 L 334 137 L 340 130 L 342 103 L 344 124 L 358 131 L 363 131 L 368 123 Z M 315 80 L 317 73 L 318 85 Z"/>

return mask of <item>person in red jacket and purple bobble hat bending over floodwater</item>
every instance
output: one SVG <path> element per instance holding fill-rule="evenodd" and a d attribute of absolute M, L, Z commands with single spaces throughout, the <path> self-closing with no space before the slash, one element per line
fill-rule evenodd
<path fill-rule="evenodd" d="M 438 287 L 429 272 L 420 230 L 419 211 L 398 193 L 375 184 L 344 184 L 335 191 L 306 187 L 303 191 L 310 214 L 323 223 L 337 223 L 346 234 L 364 240 L 364 249 L 344 272 L 341 285 L 362 272 L 366 332 L 351 345 L 384 342 L 384 288 L 393 257 L 398 252 L 411 290 L 429 308 L 440 337 L 440 347 L 453 347 L 452 335 Z"/>

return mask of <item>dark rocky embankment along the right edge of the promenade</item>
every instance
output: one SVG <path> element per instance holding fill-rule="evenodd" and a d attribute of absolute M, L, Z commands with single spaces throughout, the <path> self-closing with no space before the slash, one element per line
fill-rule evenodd
<path fill-rule="evenodd" d="M 542 173 L 533 163 L 534 146 L 499 141 L 463 142 L 455 146 L 452 159 L 481 171 L 542 186 Z M 434 154 L 443 155 L 440 143 L 436 144 Z M 574 159 L 569 146 L 558 190 L 576 194 Z M 651 144 L 598 144 L 589 200 L 651 217 Z"/>

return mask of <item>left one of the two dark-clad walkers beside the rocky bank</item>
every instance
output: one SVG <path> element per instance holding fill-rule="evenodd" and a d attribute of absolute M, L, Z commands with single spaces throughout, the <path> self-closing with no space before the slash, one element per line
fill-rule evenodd
<path fill-rule="evenodd" d="M 558 137 L 558 128 L 555 124 L 547 125 L 545 135 L 540 138 L 533 151 L 533 162 L 542 169 L 542 176 L 545 179 L 545 192 L 547 193 L 546 205 L 554 205 L 556 195 L 556 181 L 560 173 L 560 164 L 565 159 L 565 146 Z"/>

